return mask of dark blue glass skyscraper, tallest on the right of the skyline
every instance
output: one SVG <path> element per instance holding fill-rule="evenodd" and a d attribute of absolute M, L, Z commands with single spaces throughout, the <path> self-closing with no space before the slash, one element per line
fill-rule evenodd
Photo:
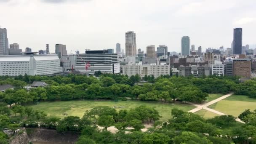
<path fill-rule="evenodd" d="M 234 54 L 242 53 L 242 41 L 243 41 L 242 37 L 243 37 L 242 28 L 235 28 L 234 29 L 234 39 L 233 39 Z"/>

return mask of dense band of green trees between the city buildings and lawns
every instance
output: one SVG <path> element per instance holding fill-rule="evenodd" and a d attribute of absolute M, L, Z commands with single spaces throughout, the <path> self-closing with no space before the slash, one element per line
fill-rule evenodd
<path fill-rule="evenodd" d="M 205 101 L 207 93 L 244 93 L 254 96 L 254 85 L 248 82 L 239 83 L 236 77 L 158 77 L 144 85 L 134 85 L 141 80 L 139 75 L 127 77 L 125 75 L 101 74 L 99 77 L 84 75 L 67 76 L 17 76 L 14 78 L 0 77 L 1 84 L 10 83 L 14 90 L 0 93 L 0 101 L 7 104 L 30 104 L 40 101 L 69 101 L 75 99 L 112 99 L 125 100 L 126 98 L 142 101 Z M 33 81 L 44 81 L 48 86 L 43 88 L 23 87 Z M 255 80 L 251 80 L 255 83 Z M 244 91 L 247 91 L 246 93 Z"/>

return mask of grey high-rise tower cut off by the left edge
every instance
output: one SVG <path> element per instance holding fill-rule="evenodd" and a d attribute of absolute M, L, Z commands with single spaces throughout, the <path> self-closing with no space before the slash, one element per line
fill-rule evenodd
<path fill-rule="evenodd" d="M 8 55 L 8 48 L 7 30 L 0 27 L 0 55 Z"/>

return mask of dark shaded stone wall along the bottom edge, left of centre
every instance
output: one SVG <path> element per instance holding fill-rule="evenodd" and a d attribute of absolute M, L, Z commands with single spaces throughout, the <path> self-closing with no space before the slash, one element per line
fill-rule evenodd
<path fill-rule="evenodd" d="M 29 141 L 75 144 L 78 133 L 58 133 L 56 130 L 27 128 Z M 18 144 L 18 143 L 17 143 Z"/>

